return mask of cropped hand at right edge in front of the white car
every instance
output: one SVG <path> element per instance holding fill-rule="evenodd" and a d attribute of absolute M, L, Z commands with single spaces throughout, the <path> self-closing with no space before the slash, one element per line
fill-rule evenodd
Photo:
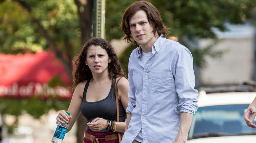
<path fill-rule="evenodd" d="M 248 109 L 245 111 L 244 118 L 245 123 L 247 126 L 256 128 L 256 125 L 252 123 L 256 116 L 256 97 L 252 101 L 252 103 L 249 105 Z"/>

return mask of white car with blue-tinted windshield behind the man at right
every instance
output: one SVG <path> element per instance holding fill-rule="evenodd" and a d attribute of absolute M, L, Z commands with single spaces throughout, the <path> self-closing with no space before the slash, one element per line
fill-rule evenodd
<path fill-rule="evenodd" d="M 248 127 L 244 120 L 244 113 L 256 96 L 251 90 L 255 87 L 219 86 L 199 90 L 198 110 L 186 142 L 255 143 L 256 129 Z"/>

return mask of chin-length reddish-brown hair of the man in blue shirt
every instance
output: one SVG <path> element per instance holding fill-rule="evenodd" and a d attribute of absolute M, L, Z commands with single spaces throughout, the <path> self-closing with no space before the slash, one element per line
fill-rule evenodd
<path fill-rule="evenodd" d="M 133 39 L 131 35 L 129 20 L 131 19 L 132 16 L 134 16 L 136 12 L 140 10 L 146 12 L 148 22 L 154 28 L 153 33 L 158 34 L 158 36 L 163 34 L 162 37 L 166 37 L 168 30 L 163 25 L 161 15 L 157 8 L 149 2 L 139 1 L 133 3 L 130 7 L 128 7 L 123 14 L 121 28 L 123 33 L 125 34 L 124 40 L 126 40 L 128 43 L 134 43 L 136 46 L 139 46 L 139 44 Z"/>

